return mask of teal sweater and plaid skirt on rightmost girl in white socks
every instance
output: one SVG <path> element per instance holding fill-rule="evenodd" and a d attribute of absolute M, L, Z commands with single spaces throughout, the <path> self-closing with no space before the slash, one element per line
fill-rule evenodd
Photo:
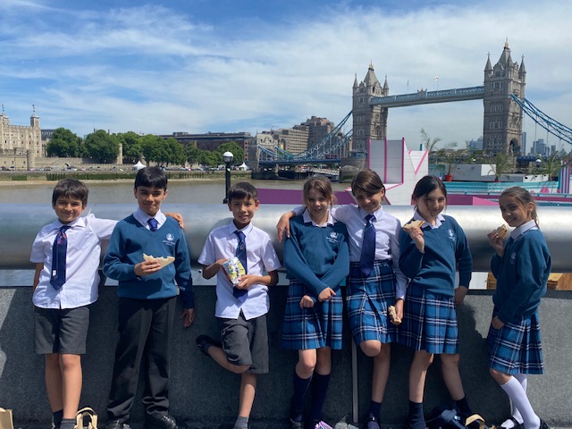
<path fill-rule="evenodd" d="M 504 374 L 543 374 L 538 307 L 546 293 L 551 255 L 534 221 L 510 233 L 503 257 L 492 257 L 491 271 L 497 279 L 492 317 L 504 326 L 489 328 L 490 367 Z"/>

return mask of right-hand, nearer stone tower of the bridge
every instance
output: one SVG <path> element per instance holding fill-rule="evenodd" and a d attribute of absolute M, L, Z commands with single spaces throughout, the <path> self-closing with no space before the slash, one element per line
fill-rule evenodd
<path fill-rule="evenodd" d="M 504 44 L 499 62 L 491 66 L 489 54 L 484 66 L 483 148 L 486 154 L 520 155 L 523 111 L 510 97 L 525 98 L 525 59 L 520 65 L 510 57 L 509 42 Z"/>

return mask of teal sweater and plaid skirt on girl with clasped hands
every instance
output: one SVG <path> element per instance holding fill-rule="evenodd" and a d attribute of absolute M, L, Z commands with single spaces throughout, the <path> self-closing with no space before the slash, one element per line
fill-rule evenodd
<path fill-rule="evenodd" d="M 290 238 L 284 242 L 284 265 L 290 280 L 282 325 L 284 349 L 341 349 L 343 299 L 341 282 L 349 273 L 348 231 L 334 223 L 323 225 L 308 212 L 290 219 Z M 318 295 L 326 288 L 336 295 L 324 302 Z M 314 307 L 300 308 L 309 296 Z"/>

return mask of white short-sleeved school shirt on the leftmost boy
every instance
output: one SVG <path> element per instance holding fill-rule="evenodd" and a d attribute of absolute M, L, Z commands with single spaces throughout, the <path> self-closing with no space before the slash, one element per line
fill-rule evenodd
<path fill-rule="evenodd" d="M 44 263 L 32 297 L 36 307 L 77 308 L 96 302 L 101 241 L 109 240 L 116 223 L 110 219 L 97 219 L 93 214 L 67 223 L 71 228 L 65 232 L 68 238 L 65 283 L 60 290 L 50 284 L 50 277 L 52 248 L 63 223 L 57 220 L 38 232 L 29 257 L 34 264 Z"/>

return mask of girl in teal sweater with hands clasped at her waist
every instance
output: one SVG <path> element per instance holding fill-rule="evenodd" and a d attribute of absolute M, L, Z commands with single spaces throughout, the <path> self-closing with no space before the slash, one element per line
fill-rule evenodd
<path fill-rule="evenodd" d="M 282 347 L 298 351 L 294 394 L 290 407 L 292 429 L 301 429 L 304 396 L 312 385 L 307 427 L 322 420 L 322 408 L 332 370 L 332 349 L 341 349 L 343 301 L 340 283 L 349 273 L 348 231 L 334 223 L 332 185 L 325 177 L 304 184 L 307 211 L 290 219 L 290 238 L 284 243 L 284 265 L 290 279 L 282 329 Z"/>

